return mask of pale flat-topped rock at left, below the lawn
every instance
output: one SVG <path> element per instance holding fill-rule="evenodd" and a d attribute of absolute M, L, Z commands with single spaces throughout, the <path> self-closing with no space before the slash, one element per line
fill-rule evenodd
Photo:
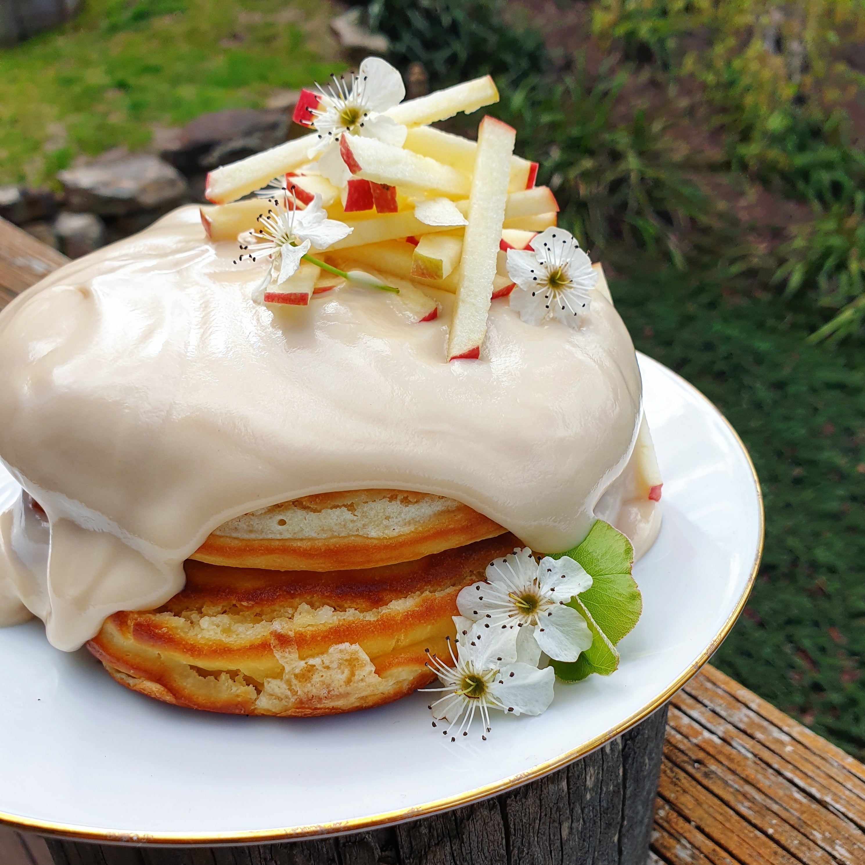
<path fill-rule="evenodd" d="M 180 202 L 186 181 L 173 165 L 150 153 L 104 153 L 93 162 L 57 172 L 69 210 L 123 215 Z"/>

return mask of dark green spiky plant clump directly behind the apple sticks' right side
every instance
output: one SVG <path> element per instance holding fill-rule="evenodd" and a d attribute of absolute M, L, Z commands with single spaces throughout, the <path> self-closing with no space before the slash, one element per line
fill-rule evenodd
<path fill-rule="evenodd" d="M 592 79 L 580 61 L 560 80 L 531 77 L 503 89 L 491 110 L 516 126 L 517 149 L 541 164 L 538 182 L 554 190 L 584 247 L 597 256 L 624 241 L 683 269 L 685 229 L 708 224 L 712 210 L 670 147 L 665 119 L 642 111 L 612 118 L 627 78 L 604 67 Z"/>

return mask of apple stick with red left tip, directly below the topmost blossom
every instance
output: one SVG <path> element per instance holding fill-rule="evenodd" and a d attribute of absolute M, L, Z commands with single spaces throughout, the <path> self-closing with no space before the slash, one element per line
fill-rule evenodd
<path fill-rule="evenodd" d="M 377 138 L 343 135 L 339 151 L 353 175 L 375 183 L 414 186 L 445 195 L 465 195 L 469 191 L 469 178 L 461 171 Z"/>

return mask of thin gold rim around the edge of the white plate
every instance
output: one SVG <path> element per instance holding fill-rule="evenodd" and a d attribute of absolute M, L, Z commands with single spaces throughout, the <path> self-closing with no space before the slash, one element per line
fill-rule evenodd
<path fill-rule="evenodd" d="M 638 354 L 641 354 L 638 352 Z M 653 362 L 652 358 L 649 358 Z M 514 787 L 528 784 L 529 781 L 535 781 L 543 778 L 550 772 L 555 772 L 573 763 L 574 760 L 585 757 L 587 753 L 594 751 L 596 748 L 606 744 L 606 742 L 615 739 L 616 736 L 625 733 L 630 727 L 634 727 L 644 718 L 648 717 L 657 708 L 661 708 L 664 703 L 670 700 L 670 697 L 676 693 L 683 685 L 687 684 L 700 671 L 704 663 L 718 650 L 724 638 L 732 630 L 737 618 L 739 618 L 742 609 L 745 606 L 748 595 L 753 588 L 754 580 L 757 578 L 759 562 L 763 555 L 763 541 L 766 535 L 766 521 L 763 512 L 763 492 L 760 489 L 759 477 L 754 470 L 751 454 L 745 444 L 740 439 L 739 433 L 735 431 L 734 426 L 724 417 L 718 410 L 718 407 L 708 399 L 705 394 L 695 388 L 689 381 L 686 381 L 678 373 L 672 369 L 662 366 L 666 372 L 675 375 L 679 381 L 695 394 L 699 395 L 702 400 L 708 403 L 714 413 L 721 417 L 721 420 L 727 425 L 727 429 L 733 433 L 733 437 L 739 444 L 741 452 L 745 454 L 748 468 L 751 470 L 753 477 L 754 492 L 757 494 L 757 505 L 759 510 L 759 541 L 757 543 L 757 552 L 754 555 L 753 564 L 751 566 L 751 575 L 748 577 L 746 590 L 741 594 L 739 601 L 730 613 L 727 621 L 721 626 L 721 630 L 715 634 L 711 643 L 708 644 L 694 663 L 691 663 L 687 670 L 679 676 L 675 682 L 657 695 L 653 700 L 639 709 L 638 712 L 631 714 L 625 721 L 610 727 L 606 732 L 595 736 L 587 742 L 584 742 L 579 747 L 573 748 L 571 751 L 561 754 L 555 759 L 547 760 L 538 766 L 534 766 L 526 772 L 519 772 L 516 775 L 511 775 L 509 778 L 497 781 L 495 784 L 488 784 L 483 787 L 477 787 L 475 790 L 460 793 L 458 796 L 451 796 L 444 799 L 437 799 L 434 802 L 426 802 L 425 804 L 414 805 L 412 808 L 403 808 L 399 811 L 386 811 L 382 814 L 374 814 L 371 817 L 356 817 L 352 820 L 336 820 L 332 823 L 317 823 L 310 826 L 292 826 L 286 829 L 266 829 L 266 830 L 249 830 L 240 832 L 202 832 L 193 833 L 191 835 L 183 835 L 173 832 L 124 832 L 120 830 L 95 829 L 87 826 L 74 826 L 67 823 L 53 823 L 48 820 L 32 820 L 28 817 L 16 817 L 12 814 L 4 814 L 0 811 L 0 824 L 5 823 L 14 829 L 38 832 L 41 835 L 53 835 L 69 838 L 74 841 L 92 841 L 114 844 L 155 844 L 165 846 L 185 846 L 188 844 L 202 844 L 214 846 L 217 844 L 250 844 L 250 843 L 266 843 L 279 841 L 299 841 L 303 838 L 314 838 L 317 836 L 343 835 L 349 832 L 360 832 L 362 830 L 376 829 L 381 826 L 391 825 L 393 823 L 404 823 L 407 820 L 414 820 L 419 817 L 430 817 L 433 814 L 439 814 L 441 811 L 451 811 L 454 808 L 459 808 L 464 805 L 469 805 L 478 802 L 481 799 L 490 798 L 503 793 Z"/>

